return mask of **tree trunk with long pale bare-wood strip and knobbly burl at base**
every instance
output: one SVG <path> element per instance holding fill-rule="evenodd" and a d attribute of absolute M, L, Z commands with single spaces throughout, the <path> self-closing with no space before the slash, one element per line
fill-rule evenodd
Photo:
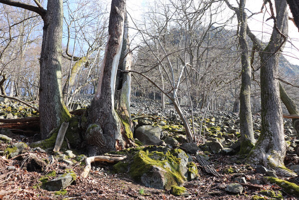
<path fill-rule="evenodd" d="M 89 125 L 84 135 L 89 155 L 127 147 L 122 127 L 114 109 L 115 80 L 123 42 L 125 0 L 112 0 L 108 26 L 108 42 L 100 68 L 97 90 L 88 110 Z M 127 138 L 126 138 L 127 137 Z"/>

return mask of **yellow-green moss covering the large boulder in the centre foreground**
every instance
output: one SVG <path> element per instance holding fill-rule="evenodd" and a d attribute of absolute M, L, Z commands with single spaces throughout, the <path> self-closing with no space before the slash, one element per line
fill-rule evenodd
<path fill-rule="evenodd" d="M 172 149 L 172 152 L 167 151 L 165 154 L 160 151 L 140 150 L 133 157 L 129 174 L 135 180 L 140 181 L 140 177 L 150 171 L 154 166 L 163 168 L 166 173 L 165 188 L 169 189 L 171 185 L 180 185 L 186 178 L 180 172 L 180 158 L 175 156 L 180 149 Z"/>

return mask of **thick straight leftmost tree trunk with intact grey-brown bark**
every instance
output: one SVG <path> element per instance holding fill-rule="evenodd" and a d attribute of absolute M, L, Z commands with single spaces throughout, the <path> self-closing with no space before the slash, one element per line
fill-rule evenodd
<path fill-rule="evenodd" d="M 69 117 L 61 92 L 62 0 L 48 0 L 40 53 L 39 116 L 44 139 Z"/>

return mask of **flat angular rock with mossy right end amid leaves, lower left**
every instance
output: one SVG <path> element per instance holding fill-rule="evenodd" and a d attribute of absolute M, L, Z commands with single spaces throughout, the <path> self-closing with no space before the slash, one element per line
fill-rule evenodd
<path fill-rule="evenodd" d="M 74 172 L 68 172 L 60 175 L 58 178 L 43 183 L 43 187 L 48 191 L 58 191 L 66 188 L 76 179 Z"/>

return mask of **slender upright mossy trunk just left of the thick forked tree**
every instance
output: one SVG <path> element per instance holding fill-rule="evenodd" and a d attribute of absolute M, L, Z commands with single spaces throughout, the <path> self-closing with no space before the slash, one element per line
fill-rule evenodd
<path fill-rule="evenodd" d="M 247 154 L 250 152 L 256 142 L 253 131 L 252 113 L 251 113 L 251 66 L 248 50 L 248 42 L 246 39 L 247 15 L 245 12 L 246 0 L 240 0 L 239 8 L 231 6 L 240 24 L 239 44 L 241 47 L 241 89 L 240 89 L 240 130 L 241 130 L 241 147 L 240 153 Z"/>

